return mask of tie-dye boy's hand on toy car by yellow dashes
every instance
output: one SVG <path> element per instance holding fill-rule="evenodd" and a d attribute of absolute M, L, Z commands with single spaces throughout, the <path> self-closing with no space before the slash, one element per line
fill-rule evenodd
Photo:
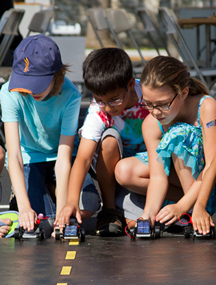
<path fill-rule="evenodd" d="M 64 227 L 65 224 L 69 225 L 72 214 L 77 218 L 78 223 L 82 223 L 79 206 L 67 203 L 67 205 L 64 206 L 64 208 L 62 208 L 60 213 L 56 216 L 54 225 L 58 225 L 59 227 Z"/>

